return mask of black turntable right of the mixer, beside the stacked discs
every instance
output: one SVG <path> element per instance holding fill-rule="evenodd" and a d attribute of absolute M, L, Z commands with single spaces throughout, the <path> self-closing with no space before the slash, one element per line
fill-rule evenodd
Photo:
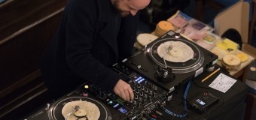
<path fill-rule="evenodd" d="M 169 52 L 175 45 L 163 48 L 163 55 L 159 53 L 159 46 L 168 42 L 184 43 L 193 50 L 194 55 L 185 62 L 168 61 L 163 55 L 167 54 L 166 52 Z M 188 51 L 184 50 L 182 52 L 186 53 Z M 187 40 L 175 31 L 168 31 L 146 45 L 144 49 L 139 49 L 129 58 L 125 58 L 121 64 L 136 71 L 136 73 L 147 80 L 151 80 L 161 88 L 172 91 L 178 84 L 197 77 L 203 71 L 212 68 L 216 62 L 218 62 L 217 55 Z"/>

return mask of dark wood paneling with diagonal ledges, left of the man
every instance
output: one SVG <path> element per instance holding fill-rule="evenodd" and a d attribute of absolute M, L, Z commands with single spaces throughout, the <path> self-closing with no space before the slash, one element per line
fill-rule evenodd
<path fill-rule="evenodd" d="M 17 119 L 28 106 L 33 110 L 51 100 L 39 62 L 66 1 L 11 1 L 0 7 L 0 118 Z"/>

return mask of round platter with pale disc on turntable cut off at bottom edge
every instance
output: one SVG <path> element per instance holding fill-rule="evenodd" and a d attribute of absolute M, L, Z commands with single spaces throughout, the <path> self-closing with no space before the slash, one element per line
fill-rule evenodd
<path fill-rule="evenodd" d="M 88 98 L 88 97 L 69 97 L 69 98 L 64 98 L 59 101 L 56 101 L 51 107 L 50 110 L 48 110 L 48 117 L 50 120 L 59 120 L 59 119 L 65 119 L 64 116 L 62 115 L 62 108 L 65 107 L 67 103 L 70 103 L 72 101 L 87 101 L 92 104 L 95 104 L 96 107 L 99 108 L 99 116 L 96 116 L 96 118 L 99 118 L 99 120 L 110 120 L 111 119 L 111 113 L 108 110 L 105 105 L 100 103 L 99 101 L 96 101 L 93 98 Z M 90 104 L 90 105 L 92 105 Z M 87 115 L 90 114 L 91 111 L 88 110 Z M 92 115 L 92 114 L 91 114 Z M 88 116 L 87 116 L 88 118 Z"/>

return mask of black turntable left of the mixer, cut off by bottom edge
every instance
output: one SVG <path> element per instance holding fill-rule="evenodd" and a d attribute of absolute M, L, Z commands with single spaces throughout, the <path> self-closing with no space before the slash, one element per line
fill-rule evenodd
<path fill-rule="evenodd" d="M 62 110 L 65 107 L 66 104 L 75 102 L 75 101 L 85 101 L 90 104 L 94 104 L 96 107 L 99 108 L 99 120 L 111 120 L 111 111 L 109 110 L 108 107 L 105 106 L 101 101 L 96 100 L 96 98 L 93 97 L 86 97 L 86 96 L 80 96 L 77 95 L 76 92 L 71 92 L 67 96 L 63 96 L 62 98 L 59 98 L 59 100 L 54 101 L 52 104 L 47 104 L 47 107 L 39 110 L 37 113 L 30 115 L 28 118 L 25 120 L 29 119 L 38 119 L 38 120 L 59 120 L 59 119 L 87 119 L 89 118 L 88 115 L 94 115 L 90 110 L 87 110 L 87 115 L 79 117 L 79 116 L 73 116 L 71 117 L 74 113 L 72 113 L 72 110 L 67 110 L 69 112 L 69 115 L 63 115 Z M 73 111 L 75 112 L 75 111 Z M 116 113 L 118 114 L 118 113 Z M 86 117 L 86 118 L 85 118 Z M 93 119 L 91 116 L 90 119 Z"/>

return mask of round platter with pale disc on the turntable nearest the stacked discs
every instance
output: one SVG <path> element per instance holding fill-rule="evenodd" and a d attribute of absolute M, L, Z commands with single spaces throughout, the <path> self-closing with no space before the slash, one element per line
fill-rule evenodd
<path fill-rule="evenodd" d="M 187 55 L 188 51 L 183 49 L 182 54 L 186 54 L 188 56 L 187 61 L 184 61 L 183 59 L 184 62 L 166 61 L 165 63 L 163 58 L 161 58 L 161 55 L 163 55 L 163 53 L 162 54 L 158 53 L 159 48 L 161 48 L 162 45 L 164 45 L 163 43 L 184 43 L 189 47 L 190 49 L 189 54 L 191 55 Z M 164 50 L 166 50 L 166 48 L 165 49 L 163 48 L 163 51 Z M 176 51 L 178 50 L 176 49 Z M 163 38 L 163 39 L 157 40 L 154 43 L 151 43 L 148 45 L 147 52 L 148 52 L 147 54 L 150 56 L 151 60 L 153 60 L 155 64 L 163 68 L 166 68 L 166 67 L 172 68 L 172 73 L 175 73 L 175 74 L 183 74 L 183 73 L 189 73 L 191 71 L 195 71 L 198 68 L 200 68 L 204 62 L 204 55 L 202 51 L 196 45 L 194 45 L 194 43 L 191 43 L 189 40 L 184 40 L 179 38 Z M 169 53 L 169 54 L 172 54 L 172 53 Z"/>

